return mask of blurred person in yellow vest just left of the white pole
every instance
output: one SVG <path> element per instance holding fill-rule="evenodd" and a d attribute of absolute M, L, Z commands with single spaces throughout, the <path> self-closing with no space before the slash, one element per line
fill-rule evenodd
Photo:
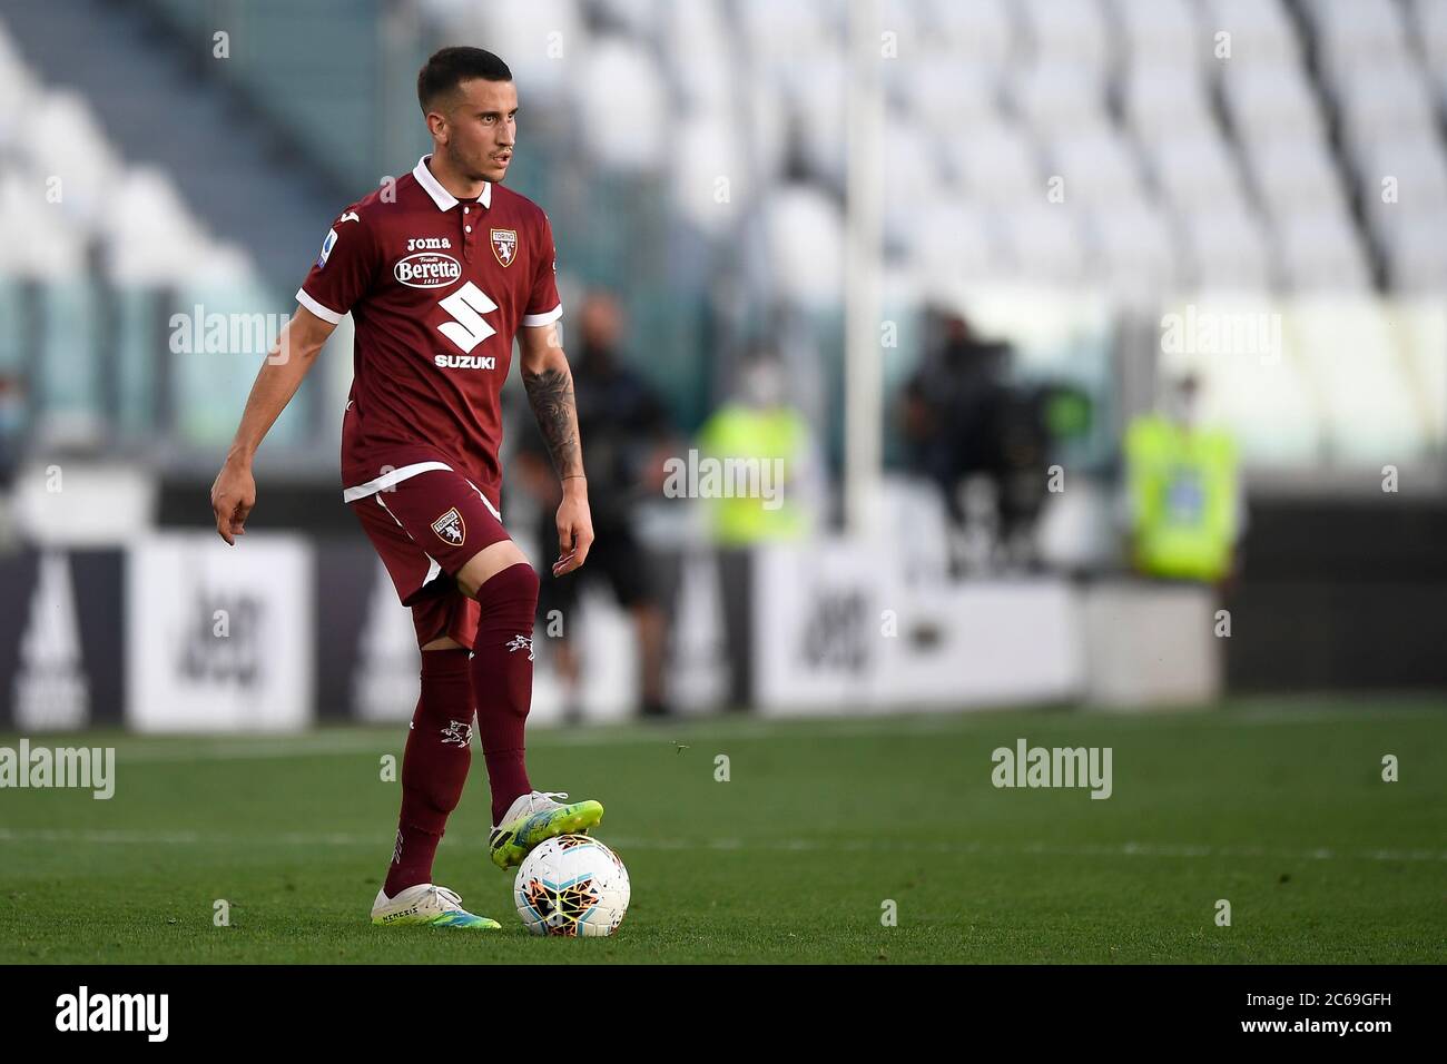
<path fill-rule="evenodd" d="M 822 462 L 803 413 L 789 402 L 787 371 L 773 347 L 755 347 L 738 391 L 699 428 L 703 459 L 758 462 L 777 470 L 773 498 L 726 492 L 708 497 L 709 533 L 718 550 L 724 634 L 729 656 L 729 706 L 752 702 L 752 550 L 809 539 L 822 510 Z"/>

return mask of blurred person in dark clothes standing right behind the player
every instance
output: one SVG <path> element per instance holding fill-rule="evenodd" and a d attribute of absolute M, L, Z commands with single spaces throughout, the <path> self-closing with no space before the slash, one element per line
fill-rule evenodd
<path fill-rule="evenodd" d="M 579 311 L 580 345 L 572 360 L 577 427 L 587 440 L 587 476 L 596 536 L 589 566 L 576 576 L 543 576 L 538 621 L 548 630 L 548 615 L 563 617 L 561 631 L 547 646 L 564 686 L 564 717 L 582 718 L 579 702 L 580 660 L 573 633 L 582 579 L 606 578 L 618 605 L 627 609 L 638 637 L 644 717 L 667 717 L 663 666 L 667 617 L 663 580 L 654 579 L 655 559 L 637 536 L 637 504 L 661 484 L 663 460 L 677 450 L 677 439 L 664 404 L 621 355 L 624 317 L 608 292 L 590 292 Z M 522 418 L 527 424 L 528 418 Z M 538 541 L 557 536 L 553 514 L 561 501 L 557 476 L 548 462 L 541 433 L 527 431 L 517 453 L 518 470 L 538 504 Z"/>

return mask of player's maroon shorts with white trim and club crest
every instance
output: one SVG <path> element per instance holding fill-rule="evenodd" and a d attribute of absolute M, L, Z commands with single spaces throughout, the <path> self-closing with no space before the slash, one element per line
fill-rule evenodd
<path fill-rule="evenodd" d="M 412 608 L 417 646 L 450 636 L 470 649 L 478 602 L 453 578 L 479 552 L 511 539 L 492 502 L 462 473 L 428 469 L 350 505 L 396 596 Z"/>

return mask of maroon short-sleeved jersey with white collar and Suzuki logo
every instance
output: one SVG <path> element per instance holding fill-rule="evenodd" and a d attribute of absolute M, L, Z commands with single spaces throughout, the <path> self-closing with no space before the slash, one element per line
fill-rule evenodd
<path fill-rule="evenodd" d="M 456 200 L 424 156 L 395 187 L 347 207 L 297 301 L 356 327 L 341 424 L 344 498 L 453 469 L 498 505 L 499 392 L 519 326 L 563 316 L 547 214 L 488 182 Z"/>

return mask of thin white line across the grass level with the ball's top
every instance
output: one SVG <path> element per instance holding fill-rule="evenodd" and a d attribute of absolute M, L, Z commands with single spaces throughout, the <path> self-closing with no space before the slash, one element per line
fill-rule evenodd
<path fill-rule="evenodd" d="M 449 835 L 453 840 L 451 835 Z M 275 835 L 218 835 L 200 831 L 71 831 L 0 828 L 0 843 L 81 843 L 100 845 L 334 845 L 385 850 L 392 845 L 388 835 L 356 835 L 347 832 L 278 832 Z M 765 850 L 854 853 L 939 853 L 939 854 L 1029 854 L 1045 857 L 1266 857 L 1272 860 L 1357 860 L 1357 861 L 1447 861 L 1447 850 L 1273 850 L 1260 845 L 1189 845 L 1178 843 L 1110 843 L 1062 845 L 1058 843 L 883 843 L 878 840 L 813 840 L 777 838 L 750 841 L 744 838 L 625 838 L 609 835 L 616 850 Z M 454 845 L 482 847 L 483 840 L 457 838 Z"/>

